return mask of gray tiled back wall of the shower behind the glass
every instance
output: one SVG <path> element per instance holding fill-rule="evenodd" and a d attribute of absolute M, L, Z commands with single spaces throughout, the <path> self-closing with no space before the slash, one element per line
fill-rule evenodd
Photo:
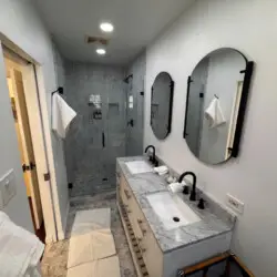
<path fill-rule="evenodd" d="M 65 76 L 64 96 L 78 113 L 65 140 L 68 177 L 74 184 L 72 196 L 115 189 L 115 158 L 125 155 L 124 70 L 66 62 Z M 91 94 L 101 95 L 101 120 L 93 117 Z"/>

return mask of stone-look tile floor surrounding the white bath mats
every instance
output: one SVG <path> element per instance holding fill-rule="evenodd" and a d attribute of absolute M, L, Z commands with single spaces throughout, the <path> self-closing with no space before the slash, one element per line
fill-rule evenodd
<path fill-rule="evenodd" d="M 116 207 L 115 192 L 96 196 L 80 196 L 71 198 L 71 207 L 68 217 L 66 238 L 70 237 L 75 213 L 88 208 L 111 208 L 111 229 L 114 236 L 115 248 L 120 258 L 121 276 L 136 277 L 131 258 L 127 240 Z M 65 277 L 68 263 L 69 240 L 48 245 L 42 258 L 43 277 Z"/>

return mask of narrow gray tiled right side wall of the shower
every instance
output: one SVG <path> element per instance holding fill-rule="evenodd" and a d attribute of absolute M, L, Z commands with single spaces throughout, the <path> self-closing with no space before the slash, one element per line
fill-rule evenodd
<path fill-rule="evenodd" d="M 141 155 L 143 153 L 143 126 L 144 126 L 144 95 L 146 73 L 146 53 L 141 53 L 129 66 L 127 75 L 133 74 L 130 81 L 127 96 L 133 95 L 134 106 L 127 106 L 127 121 L 134 120 L 134 126 L 127 126 L 126 130 L 126 154 L 129 156 Z"/>

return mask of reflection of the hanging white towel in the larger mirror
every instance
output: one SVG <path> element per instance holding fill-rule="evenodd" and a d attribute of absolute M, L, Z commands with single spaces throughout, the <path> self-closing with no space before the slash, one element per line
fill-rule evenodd
<path fill-rule="evenodd" d="M 214 99 L 207 110 L 205 117 L 208 120 L 208 127 L 217 127 L 226 122 L 218 99 Z"/>

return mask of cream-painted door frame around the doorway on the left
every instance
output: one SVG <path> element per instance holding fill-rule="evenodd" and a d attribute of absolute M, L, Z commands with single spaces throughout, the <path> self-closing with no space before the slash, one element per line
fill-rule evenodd
<path fill-rule="evenodd" d="M 61 236 L 61 230 L 58 232 L 58 227 L 61 229 L 62 220 L 59 203 L 55 201 L 58 192 L 45 89 L 41 72 L 42 65 L 1 33 L 0 54 L 21 64 L 22 60 L 28 62 L 22 66 L 22 74 L 24 90 L 28 91 L 28 96 L 25 95 L 27 109 L 32 111 L 34 115 L 29 116 L 29 121 L 44 218 L 45 243 L 54 243 L 59 239 L 58 233 L 60 233 L 59 237 Z M 50 179 L 45 181 L 44 174 L 47 173 L 50 173 Z"/>

